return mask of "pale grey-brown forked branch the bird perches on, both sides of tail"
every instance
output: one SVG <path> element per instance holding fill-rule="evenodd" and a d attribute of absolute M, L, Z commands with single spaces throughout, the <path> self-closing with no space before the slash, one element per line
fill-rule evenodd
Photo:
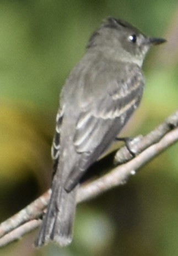
<path fill-rule="evenodd" d="M 87 201 L 110 188 L 123 185 L 129 176 L 136 174 L 138 168 L 175 144 L 176 141 L 178 141 L 178 110 L 148 135 L 131 142 L 130 148 L 136 157 L 133 158 L 125 146 L 118 150 L 115 163 L 126 163 L 115 167 L 103 177 L 81 186 L 78 190 L 77 202 Z M 45 211 L 50 194 L 51 190 L 48 190 L 20 212 L 1 223 L 0 247 L 40 226 L 41 219 L 39 218 Z"/>

